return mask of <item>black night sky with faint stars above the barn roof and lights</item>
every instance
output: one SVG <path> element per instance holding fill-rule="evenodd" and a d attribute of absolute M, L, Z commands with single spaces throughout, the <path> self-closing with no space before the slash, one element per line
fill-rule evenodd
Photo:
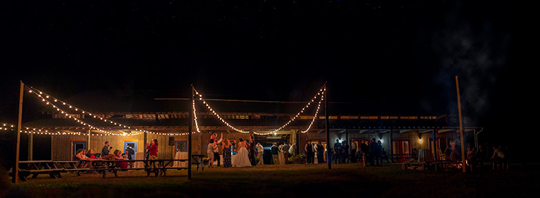
<path fill-rule="evenodd" d="M 187 98 L 193 84 L 207 98 L 280 101 L 307 101 L 328 80 L 329 101 L 443 115 L 457 113 L 457 75 L 463 111 L 500 135 L 524 127 L 515 123 L 527 108 L 528 94 L 517 88 L 524 55 L 515 8 L 440 0 L 2 1 L 0 121 L 17 119 L 19 80 L 58 98 L 95 89 Z"/>

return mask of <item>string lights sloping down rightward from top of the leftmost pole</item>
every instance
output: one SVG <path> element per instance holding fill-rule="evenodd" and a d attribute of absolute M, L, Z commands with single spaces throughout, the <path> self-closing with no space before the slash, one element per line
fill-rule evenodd
<path fill-rule="evenodd" d="M 71 104 L 68 104 L 67 102 L 63 102 L 62 100 L 59 100 L 58 98 L 54 98 L 48 94 L 43 94 L 43 91 L 40 91 L 39 89 L 36 89 L 34 87 L 29 87 L 29 86 L 26 86 L 28 89 L 30 89 L 30 93 L 34 93 L 36 94 L 37 96 L 39 96 L 40 98 L 42 99 L 45 99 L 45 98 L 52 98 L 54 99 L 54 102 L 59 102 L 60 104 L 62 105 L 65 105 L 65 106 L 68 106 L 70 109 L 74 109 L 75 111 L 81 111 L 83 114 L 87 114 L 87 115 L 90 115 L 90 116 L 93 116 L 94 118 L 99 118 L 100 120 L 103 120 L 103 122 L 110 122 L 111 124 L 114 124 L 114 125 L 117 125 L 117 126 L 122 126 L 123 128 L 127 128 L 127 129 L 132 129 L 134 128 L 135 131 L 137 131 L 137 133 L 124 133 L 125 135 L 139 135 L 139 134 L 142 134 L 144 132 L 146 133 L 150 133 L 150 134 L 155 134 L 155 135 L 188 135 L 188 133 L 157 133 L 157 132 L 153 132 L 153 131 L 146 131 L 146 130 L 143 130 L 143 129 L 137 129 L 135 128 L 134 126 L 128 126 L 126 124 L 120 124 L 118 122 L 114 122 L 112 120 L 107 120 L 106 118 L 101 118 L 101 116 L 99 115 L 95 115 L 95 114 L 92 114 L 88 111 L 83 111 L 83 109 L 80 109 L 80 108 L 77 108 L 77 107 L 74 107 L 73 105 Z M 39 93 L 39 94 L 38 94 Z M 45 98 L 43 98 L 41 95 L 46 95 Z M 43 100 L 42 100 L 43 101 Z M 52 102 L 50 102 L 52 103 Z M 54 106 L 53 104 L 53 107 L 57 108 L 56 106 Z M 121 135 L 124 135 L 124 134 L 121 134 Z"/>

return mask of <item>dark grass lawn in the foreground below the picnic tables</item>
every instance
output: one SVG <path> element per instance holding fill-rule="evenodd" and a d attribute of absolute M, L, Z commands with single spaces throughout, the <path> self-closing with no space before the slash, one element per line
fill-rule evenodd
<path fill-rule="evenodd" d="M 146 177 L 142 170 L 62 179 L 39 176 L 17 185 L 2 178 L 3 197 L 539 197 L 538 166 L 524 170 L 433 172 L 401 170 L 400 164 L 363 167 L 358 164 L 263 165 L 251 168 L 168 170 L 167 177 Z"/>

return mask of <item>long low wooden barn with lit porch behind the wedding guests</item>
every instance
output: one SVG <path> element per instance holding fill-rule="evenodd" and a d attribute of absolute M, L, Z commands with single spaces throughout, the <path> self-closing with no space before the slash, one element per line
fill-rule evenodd
<path fill-rule="evenodd" d="M 41 100 L 41 99 L 40 99 Z M 41 102 L 41 101 L 40 101 Z M 50 142 L 50 159 L 70 160 L 78 148 L 92 149 L 100 153 L 104 142 L 120 151 L 130 149 L 133 153 L 144 152 L 146 142 L 157 139 L 159 142 L 159 159 L 170 159 L 172 153 L 185 152 L 188 148 L 189 114 L 192 102 L 187 98 L 158 98 L 152 91 L 86 91 L 63 100 L 72 108 L 57 104 L 68 112 L 57 111 L 46 106 L 41 111 L 41 118 L 23 123 L 23 126 L 36 129 L 66 133 L 66 135 L 41 135 L 22 133 L 28 135 L 28 159 L 32 159 L 34 141 Z M 206 102 L 232 126 L 250 133 L 267 133 L 278 129 L 287 123 L 302 109 L 306 102 L 275 102 L 275 101 L 245 101 L 245 100 L 210 100 Z M 81 109 L 74 111 L 77 107 Z M 250 133 L 239 133 L 217 119 L 205 104 L 196 102 L 197 123 L 200 133 L 195 131 L 192 135 L 192 153 L 206 155 L 206 145 L 210 135 L 223 133 L 223 137 L 230 140 L 239 138 L 248 139 Z M 324 112 L 321 105 L 318 119 L 314 119 L 311 128 L 306 132 L 312 122 L 317 105 L 312 104 L 297 120 L 291 122 L 283 130 L 270 135 L 254 134 L 255 141 L 263 146 L 277 143 L 295 144 L 297 151 L 303 151 L 307 140 L 321 141 L 326 144 L 326 131 Z M 431 149 L 436 146 L 436 153 L 444 151 L 447 145 L 459 142 L 459 127 L 457 117 L 450 115 L 422 115 L 421 113 L 392 114 L 377 113 L 369 104 L 328 102 L 328 115 L 330 140 L 362 143 L 375 138 L 383 142 L 383 148 L 392 154 L 408 154 L 413 148 Z M 86 111 L 87 114 L 83 113 Z M 88 115 L 91 112 L 97 118 Z M 107 120 L 104 122 L 99 117 Z M 90 129 L 81 122 L 92 124 L 104 131 Z M 124 124 L 119 126 L 118 124 Z M 126 128 L 129 126 L 129 128 Z M 465 125 L 464 137 L 466 144 L 475 145 L 477 130 L 480 128 Z M 137 129 L 137 130 L 135 130 Z M 150 131 L 151 133 L 141 133 Z M 195 130 L 195 129 L 194 129 Z M 76 133 L 68 134 L 68 133 Z M 120 135 L 108 135 L 108 133 Z M 138 135 L 132 135 L 139 133 Z M 90 135 L 88 135 L 90 134 Z M 125 134 L 125 135 L 124 135 Z M 40 137 L 39 136 L 46 136 Z M 170 140 L 174 146 L 169 146 Z M 435 140 L 435 144 L 433 143 Z M 43 142 L 42 142 L 43 143 Z M 22 144 L 24 145 L 24 144 Z M 35 144 L 37 145 L 37 144 Z M 48 146 L 46 146 L 48 149 Z M 23 150 L 21 150 L 23 151 Z M 23 157 L 22 157 L 23 158 Z M 21 159 L 22 159 L 21 158 Z M 35 157 L 34 157 L 35 158 Z M 49 157 L 40 156 L 48 159 Z"/>

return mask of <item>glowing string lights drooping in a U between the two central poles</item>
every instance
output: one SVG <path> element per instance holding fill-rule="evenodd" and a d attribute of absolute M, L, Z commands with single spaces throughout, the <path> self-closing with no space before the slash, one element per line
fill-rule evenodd
<path fill-rule="evenodd" d="M 194 88 L 193 88 L 194 89 Z M 208 108 L 208 110 L 212 111 L 212 113 L 219 119 L 221 120 L 221 122 L 223 122 L 224 124 L 226 124 L 227 126 L 229 126 L 231 129 L 233 129 L 234 131 L 238 131 L 240 133 L 250 133 L 249 131 L 241 131 L 239 129 L 237 129 L 236 127 L 232 126 L 231 124 L 229 124 L 228 122 L 226 122 L 225 120 L 223 120 L 223 118 L 221 118 L 221 116 L 219 115 L 219 113 L 216 113 L 214 111 L 214 109 L 212 109 L 212 107 L 210 107 L 210 104 L 208 104 L 208 102 L 206 102 L 206 100 L 204 100 L 202 94 L 199 94 L 199 91 L 197 91 L 197 89 L 194 90 L 195 91 L 195 94 L 197 94 L 197 96 L 199 96 L 199 100 L 202 100 L 203 101 L 203 104 L 206 104 L 206 107 Z M 304 106 L 298 113 L 297 115 L 295 115 L 293 118 L 291 118 L 286 124 L 283 124 L 283 126 L 279 127 L 278 129 L 275 129 L 274 131 L 271 131 L 269 133 L 256 133 L 254 132 L 254 134 L 257 134 L 257 135 L 269 135 L 271 133 L 276 133 L 277 131 L 280 131 L 281 129 L 285 128 L 286 126 L 288 126 L 288 124 L 290 124 L 291 122 L 293 122 L 294 120 L 296 120 L 301 113 L 303 113 L 304 110 L 306 110 L 306 108 L 308 108 L 311 104 L 311 102 L 314 102 L 316 99 L 317 99 L 317 96 L 321 95 L 321 101 L 322 101 L 322 96 L 323 96 L 323 93 L 324 91 L 326 91 L 326 85 L 324 85 L 321 89 L 319 89 L 319 91 L 317 91 L 317 94 L 315 94 L 315 96 L 312 98 L 312 100 L 310 100 L 310 102 L 308 102 L 308 104 L 306 104 L 306 106 Z M 320 107 L 320 104 L 321 104 L 321 101 L 319 101 L 319 107 Z M 316 114 L 314 116 L 314 118 L 317 118 L 317 113 L 319 112 L 319 107 L 317 107 L 317 111 L 316 111 Z M 312 124 L 314 122 L 314 119 L 312 120 L 310 126 L 308 126 L 308 129 L 306 130 L 306 132 L 311 128 Z M 304 131 L 302 131 L 302 133 L 306 133 Z"/>

